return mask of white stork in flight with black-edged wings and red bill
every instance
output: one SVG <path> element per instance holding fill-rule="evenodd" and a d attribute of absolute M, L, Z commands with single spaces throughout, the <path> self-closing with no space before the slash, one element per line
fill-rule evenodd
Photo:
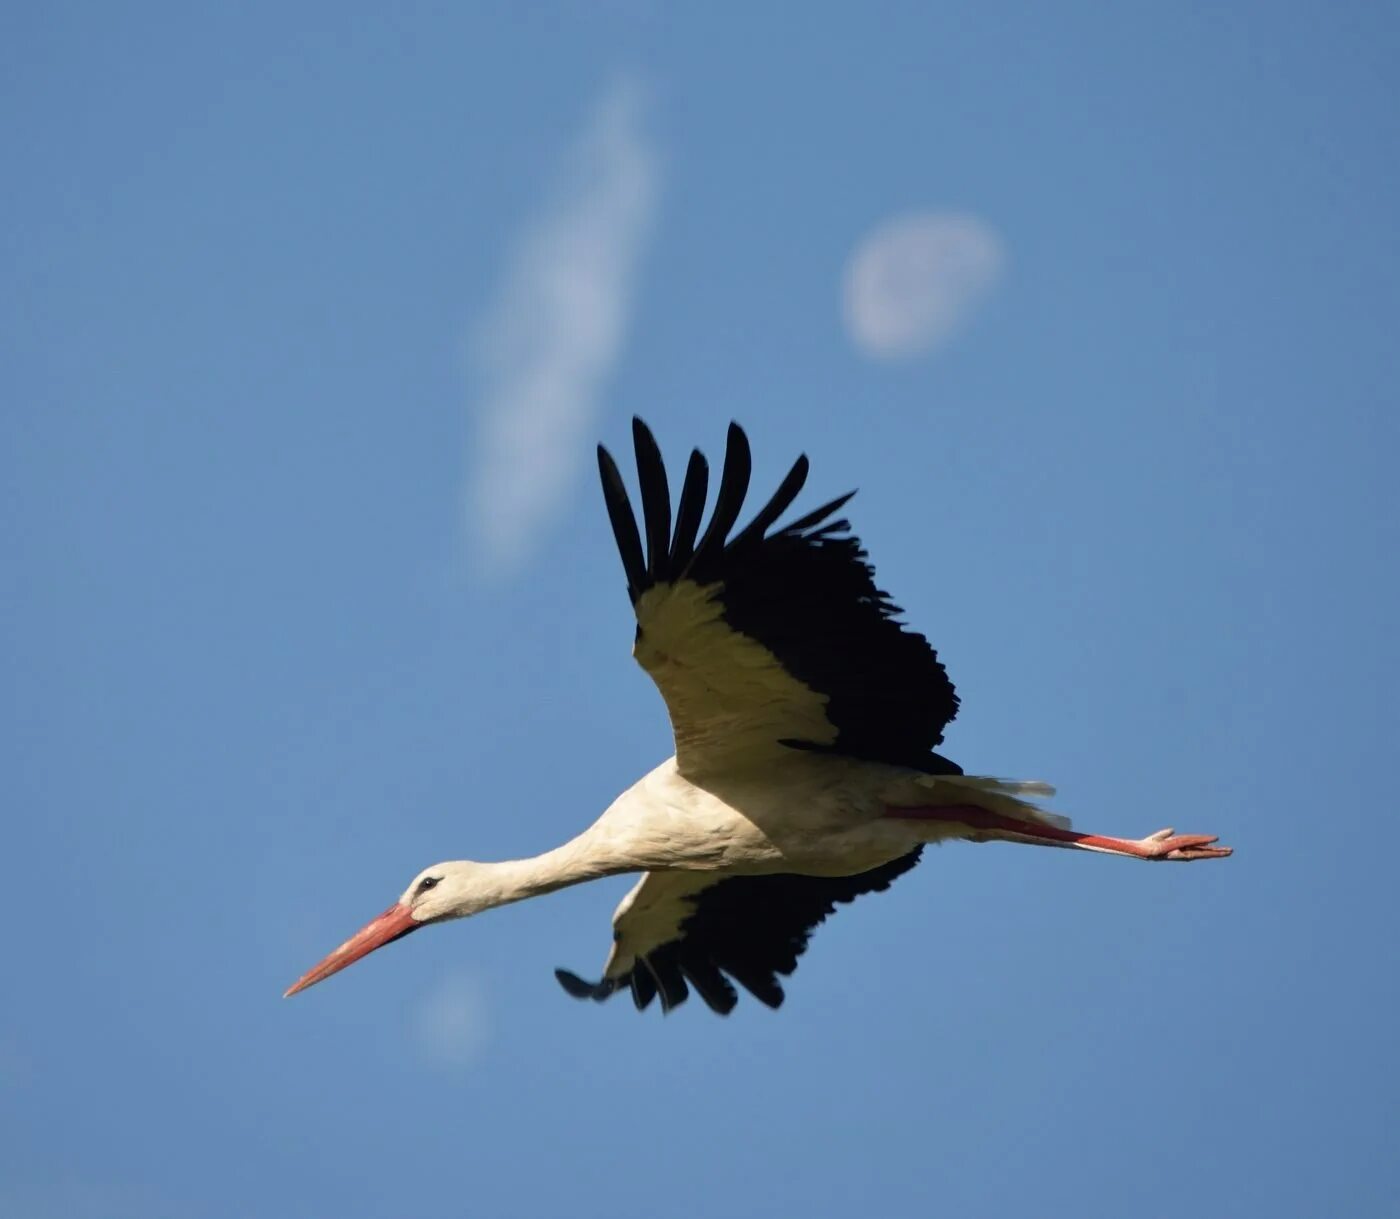
<path fill-rule="evenodd" d="M 806 458 L 731 533 L 749 487 L 749 442 L 729 425 L 720 493 L 696 451 L 672 521 L 657 442 L 633 421 L 643 533 L 617 465 L 598 448 L 603 498 L 637 614 L 633 655 L 671 712 L 676 753 L 589 829 L 533 859 L 456 861 L 301 977 L 293 995 L 430 922 L 465 918 L 599 876 L 640 872 L 613 915 L 602 978 L 556 975 L 570 995 L 626 988 L 662 1010 L 694 988 L 715 1012 L 783 1002 L 813 928 L 839 901 L 889 887 L 928 843 L 1070 847 L 1134 859 L 1218 859 L 1214 837 L 1161 830 L 1106 838 L 1070 830 L 1029 796 L 1040 782 L 965 775 L 934 752 L 958 697 L 928 641 L 903 627 L 861 543 L 833 519 L 841 495 L 774 529 Z M 699 539 L 699 540 L 697 540 Z"/>

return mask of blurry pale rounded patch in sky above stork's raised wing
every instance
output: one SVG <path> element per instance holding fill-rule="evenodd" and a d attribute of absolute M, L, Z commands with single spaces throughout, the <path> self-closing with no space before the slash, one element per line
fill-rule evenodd
<path fill-rule="evenodd" d="M 1001 279 L 1007 251 L 976 216 L 918 213 L 876 225 L 846 267 L 846 329 L 879 360 L 951 339 Z"/>

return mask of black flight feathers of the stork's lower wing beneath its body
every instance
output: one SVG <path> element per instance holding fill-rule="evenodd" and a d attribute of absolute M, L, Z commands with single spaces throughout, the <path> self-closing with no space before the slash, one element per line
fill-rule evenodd
<path fill-rule="evenodd" d="M 918 862 L 911 851 L 855 876 L 729 876 L 689 899 L 679 936 L 640 957 L 622 978 L 587 982 L 554 970 L 575 999 L 609 998 L 631 988 L 638 1010 L 661 996 L 662 1010 L 683 1003 L 693 988 L 721 1016 L 738 1003 L 734 982 L 770 1008 L 783 1005 L 778 977 L 788 977 L 812 932 L 839 903 L 881 893 Z"/>

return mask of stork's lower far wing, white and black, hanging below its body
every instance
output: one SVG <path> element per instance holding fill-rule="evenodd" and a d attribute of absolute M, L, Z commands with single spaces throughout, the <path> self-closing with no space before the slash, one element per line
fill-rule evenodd
<path fill-rule="evenodd" d="M 598 982 L 554 970 L 577 999 L 606 999 L 630 989 L 641 1010 L 661 996 L 662 1010 L 693 987 L 727 1016 L 739 982 L 770 1008 L 783 1003 L 778 975 L 790 975 L 812 931 L 840 901 L 878 893 L 918 862 L 913 851 L 855 876 L 725 876 L 648 872 L 613 915 L 613 950 Z M 732 981 L 731 981 L 732 980 Z"/>

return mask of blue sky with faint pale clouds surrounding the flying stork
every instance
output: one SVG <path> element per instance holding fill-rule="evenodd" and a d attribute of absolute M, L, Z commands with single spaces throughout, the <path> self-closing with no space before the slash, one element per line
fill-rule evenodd
<path fill-rule="evenodd" d="M 0 1213 L 1393 1213 L 1394 14 L 522 10 L 4 18 Z M 902 217 L 990 246 L 889 351 Z M 633 413 L 860 486 L 969 770 L 1235 858 L 944 848 L 780 1013 L 567 999 L 622 882 L 284 1003 L 668 752 Z"/>

